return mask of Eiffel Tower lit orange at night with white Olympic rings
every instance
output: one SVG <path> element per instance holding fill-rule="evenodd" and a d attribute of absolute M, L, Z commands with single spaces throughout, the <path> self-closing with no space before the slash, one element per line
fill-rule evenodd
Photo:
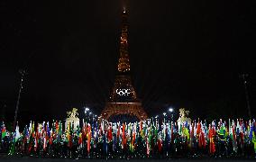
<path fill-rule="evenodd" d="M 130 76 L 127 18 L 128 14 L 123 9 L 117 75 L 115 76 L 114 87 L 109 100 L 105 103 L 105 109 L 101 113 L 102 118 L 107 121 L 114 116 L 120 115 L 135 117 L 137 121 L 147 119 L 148 117 L 147 113 L 144 112 L 142 102 L 137 98 Z"/>

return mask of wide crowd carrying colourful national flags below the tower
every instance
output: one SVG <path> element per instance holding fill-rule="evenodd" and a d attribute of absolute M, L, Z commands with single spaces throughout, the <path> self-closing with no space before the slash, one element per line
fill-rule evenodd
<path fill-rule="evenodd" d="M 14 132 L 1 124 L 0 150 L 9 156 L 90 158 L 249 157 L 256 155 L 256 122 L 149 119 L 133 123 L 30 122 Z"/>

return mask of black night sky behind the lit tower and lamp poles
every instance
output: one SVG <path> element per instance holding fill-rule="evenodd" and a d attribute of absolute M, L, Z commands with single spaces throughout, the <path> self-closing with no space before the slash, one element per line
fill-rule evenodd
<path fill-rule="evenodd" d="M 256 10 L 252 1 L 131 0 L 133 85 L 150 115 L 185 107 L 193 118 L 246 117 L 247 73 L 255 117 Z M 1 113 L 63 119 L 71 107 L 99 114 L 114 85 L 123 3 L 2 0 Z M 6 107 L 4 109 L 4 104 Z M 82 115 L 81 115 L 82 117 Z"/>

